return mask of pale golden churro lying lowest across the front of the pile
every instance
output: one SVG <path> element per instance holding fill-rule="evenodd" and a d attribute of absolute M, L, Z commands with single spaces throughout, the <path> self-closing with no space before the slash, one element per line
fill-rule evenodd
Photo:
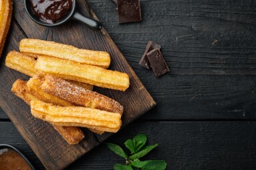
<path fill-rule="evenodd" d="M 31 113 L 54 125 L 88 127 L 98 131 L 117 132 L 122 125 L 118 113 L 88 107 L 61 107 L 43 101 L 31 101 Z"/>

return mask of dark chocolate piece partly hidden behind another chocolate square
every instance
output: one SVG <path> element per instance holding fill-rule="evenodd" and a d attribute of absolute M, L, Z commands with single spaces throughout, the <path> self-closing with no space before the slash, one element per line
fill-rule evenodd
<path fill-rule="evenodd" d="M 148 41 L 148 45 L 146 45 L 146 49 L 144 54 L 142 55 L 140 62 L 138 63 L 139 65 L 141 65 L 142 67 L 145 67 L 147 69 L 151 69 L 150 68 L 150 63 L 148 61 L 148 57 L 146 56 L 146 53 L 148 53 L 149 51 L 151 51 L 152 49 L 160 49 L 161 45 L 154 43 L 153 41 Z"/>

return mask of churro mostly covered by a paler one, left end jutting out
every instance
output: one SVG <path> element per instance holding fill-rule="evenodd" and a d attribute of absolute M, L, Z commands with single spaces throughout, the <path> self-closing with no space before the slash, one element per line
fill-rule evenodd
<path fill-rule="evenodd" d="M 10 69 L 19 71 L 25 75 L 29 75 L 30 77 L 34 77 L 39 74 L 35 70 L 35 63 L 36 63 L 35 59 L 28 57 L 23 53 L 19 53 L 17 51 L 10 51 L 5 60 L 5 65 L 7 67 L 9 67 Z M 81 83 L 81 82 L 72 81 L 72 80 L 68 80 L 68 81 L 80 87 L 84 87 L 85 89 L 88 89 L 88 90 L 93 89 L 93 85 L 88 85 L 86 83 Z"/>

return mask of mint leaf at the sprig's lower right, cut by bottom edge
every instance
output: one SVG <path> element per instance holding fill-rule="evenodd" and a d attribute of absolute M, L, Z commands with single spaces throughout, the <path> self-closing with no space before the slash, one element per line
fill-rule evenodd
<path fill-rule="evenodd" d="M 166 169 L 166 162 L 162 160 L 134 161 L 132 166 L 144 170 L 164 170 Z"/>

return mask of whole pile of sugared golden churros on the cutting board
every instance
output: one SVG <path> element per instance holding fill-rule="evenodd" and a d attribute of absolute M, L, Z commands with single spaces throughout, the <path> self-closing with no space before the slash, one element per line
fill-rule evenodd
<path fill-rule="evenodd" d="M 5 65 L 31 77 L 17 79 L 11 91 L 34 117 L 53 125 L 70 145 L 84 138 L 79 127 L 98 134 L 120 129 L 124 107 L 92 91 L 93 85 L 120 91 L 130 85 L 128 74 L 107 69 L 107 52 L 39 39 L 22 39 L 19 50 L 8 53 Z"/>

